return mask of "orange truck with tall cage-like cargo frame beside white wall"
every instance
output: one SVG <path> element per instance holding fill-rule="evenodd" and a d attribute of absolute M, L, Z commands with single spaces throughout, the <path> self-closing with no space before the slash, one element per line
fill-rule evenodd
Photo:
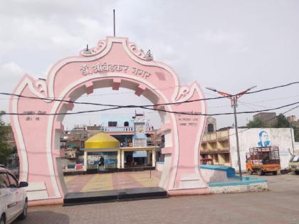
<path fill-rule="evenodd" d="M 255 147 L 246 154 L 246 170 L 249 174 L 266 173 L 277 175 L 280 171 L 280 156 L 278 146 Z"/>

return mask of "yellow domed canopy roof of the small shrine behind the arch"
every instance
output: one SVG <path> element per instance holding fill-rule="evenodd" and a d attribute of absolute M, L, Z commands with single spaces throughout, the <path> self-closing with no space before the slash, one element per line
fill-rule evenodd
<path fill-rule="evenodd" d="M 120 142 L 115 137 L 100 132 L 85 141 L 85 149 L 119 149 Z"/>

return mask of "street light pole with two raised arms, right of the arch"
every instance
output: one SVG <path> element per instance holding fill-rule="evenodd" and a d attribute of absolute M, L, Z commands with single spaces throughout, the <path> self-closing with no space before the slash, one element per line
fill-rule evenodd
<path fill-rule="evenodd" d="M 250 87 L 247 90 L 243 91 L 243 92 L 239 92 L 236 95 L 231 95 L 229 93 L 226 92 L 221 92 L 218 91 L 214 88 L 211 87 L 206 87 L 206 89 L 217 92 L 219 95 L 222 95 L 224 97 L 228 97 L 229 100 L 231 100 L 231 107 L 234 108 L 234 118 L 235 118 L 235 131 L 236 131 L 236 146 L 237 146 L 237 154 L 238 154 L 238 172 L 240 174 L 240 180 L 242 181 L 242 171 L 241 171 L 241 159 L 240 159 L 240 146 L 238 144 L 238 122 L 237 122 L 237 117 L 236 117 L 236 107 L 238 107 L 238 98 L 240 98 L 242 95 L 244 95 L 246 92 L 248 92 L 249 90 L 252 90 L 253 88 L 255 88 L 256 86 Z"/>

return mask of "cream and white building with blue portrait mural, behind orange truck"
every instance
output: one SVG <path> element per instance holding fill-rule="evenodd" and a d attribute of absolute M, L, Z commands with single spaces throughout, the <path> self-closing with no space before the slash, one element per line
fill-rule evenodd
<path fill-rule="evenodd" d="M 257 146 L 278 146 L 281 169 L 288 168 L 288 161 L 298 144 L 290 128 L 238 129 L 241 169 L 246 171 L 246 153 Z M 210 158 L 213 164 L 232 166 L 238 171 L 238 155 L 235 129 L 222 129 L 204 135 L 201 142 L 201 158 Z"/>

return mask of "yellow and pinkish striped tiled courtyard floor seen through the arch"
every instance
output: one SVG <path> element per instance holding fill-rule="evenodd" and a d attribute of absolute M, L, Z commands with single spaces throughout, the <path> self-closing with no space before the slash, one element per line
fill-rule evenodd
<path fill-rule="evenodd" d="M 112 174 L 85 174 L 65 176 L 68 192 L 107 191 L 125 188 L 143 188 L 159 185 L 161 172 L 135 171 Z"/>

